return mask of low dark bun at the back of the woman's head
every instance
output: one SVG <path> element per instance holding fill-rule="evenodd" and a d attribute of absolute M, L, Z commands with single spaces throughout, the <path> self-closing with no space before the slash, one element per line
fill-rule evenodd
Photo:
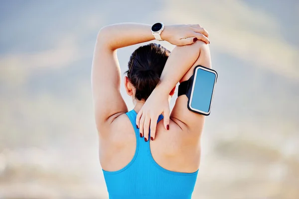
<path fill-rule="evenodd" d="M 136 90 L 151 93 L 156 85 L 160 82 L 159 74 L 151 69 L 137 71 L 134 76 L 136 76 Z M 138 93 L 136 92 L 136 98 L 138 98 Z"/>

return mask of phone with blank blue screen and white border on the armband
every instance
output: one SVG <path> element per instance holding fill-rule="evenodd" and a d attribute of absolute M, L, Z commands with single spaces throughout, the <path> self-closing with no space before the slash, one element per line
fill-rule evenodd
<path fill-rule="evenodd" d="M 209 114 L 217 73 L 202 67 L 195 70 L 193 89 L 189 107 L 195 111 Z"/>

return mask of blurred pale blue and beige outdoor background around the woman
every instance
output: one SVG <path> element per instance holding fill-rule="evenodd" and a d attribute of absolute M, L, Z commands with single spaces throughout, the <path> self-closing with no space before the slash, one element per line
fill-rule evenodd
<path fill-rule="evenodd" d="M 157 21 L 205 27 L 219 75 L 193 199 L 299 199 L 298 20 L 298 0 L 0 0 L 0 199 L 108 199 L 96 35 Z"/>

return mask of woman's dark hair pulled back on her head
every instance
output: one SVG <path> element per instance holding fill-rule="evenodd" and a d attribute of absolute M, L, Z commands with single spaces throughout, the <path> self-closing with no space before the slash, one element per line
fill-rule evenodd
<path fill-rule="evenodd" d="M 126 72 L 136 88 L 135 98 L 147 100 L 160 82 L 160 76 L 170 54 L 159 44 L 150 43 L 137 48 L 131 55 Z"/>

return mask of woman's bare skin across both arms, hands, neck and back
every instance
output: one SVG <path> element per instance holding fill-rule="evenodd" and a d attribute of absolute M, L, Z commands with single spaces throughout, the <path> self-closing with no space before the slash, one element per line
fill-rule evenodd
<path fill-rule="evenodd" d="M 142 110 L 140 118 L 148 115 L 149 121 L 145 120 L 143 127 L 140 126 L 140 132 L 150 141 L 151 154 L 156 163 L 170 171 L 192 173 L 198 169 L 200 163 L 200 137 L 204 116 L 188 110 L 186 96 L 178 97 L 171 113 L 167 113 L 169 98 L 174 94 L 176 83 L 188 80 L 197 65 L 211 67 L 210 52 L 206 44 L 209 43 L 207 32 L 200 29 L 199 25 L 190 26 L 191 28 L 187 26 L 165 26 L 162 39 L 181 46 L 176 46 L 171 52 L 161 75 L 161 83 L 146 102 L 134 98 L 135 88 L 127 77 L 124 83 L 127 94 L 134 99 L 134 110 Z M 119 31 L 120 28 L 122 31 Z M 131 31 L 132 28 L 135 30 Z M 193 40 L 195 37 L 198 39 L 196 42 Z M 136 150 L 134 128 L 125 114 L 128 108 L 120 94 L 120 68 L 116 49 L 152 39 L 154 38 L 150 26 L 144 24 L 110 26 L 98 35 L 92 87 L 99 132 L 100 162 L 106 171 L 124 168 L 132 160 Z M 156 126 L 150 125 L 150 120 L 156 121 L 160 113 L 163 113 L 164 119 L 157 124 L 152 122 Z M 149 125 L 151 134 L 154 134 L 151 135 L 154 136 L 153 140 L 148 137 Z M 152 133 L 153 128 L 155 133 Z"/>

